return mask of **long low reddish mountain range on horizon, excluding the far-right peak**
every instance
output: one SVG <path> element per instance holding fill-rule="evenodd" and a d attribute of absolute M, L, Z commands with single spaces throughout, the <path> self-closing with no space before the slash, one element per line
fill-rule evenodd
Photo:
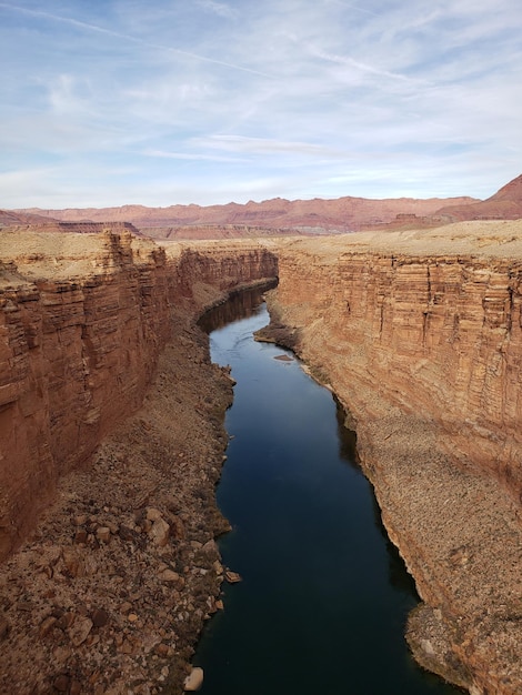
<path fill-rule="evenodd" d="M 247 204 L 228 203 L 227 205 L 170 205 L 169 208 L 147 208 L 144 205 L 123 205 L 121 208 L 86 208 L 69 210 L 41 210 L 31 208 L 18 210 L 17 213 L 31 213 L 51 216 L 67 222 L 131 222 L 140 230 L 157 239 L 173 238 L 174 228 L 208 228 L 201 229 L 199 238 L 211 238 L 212 234 L 223 231 L 217 228 L 230 225 L 249 229 L 255 228 L 259 233 L 267 230 L 297 230 L 305 233 L 349 232 L 357 231 L 363 225 L 379 225 L 390 222 L 398 214 L 432 215 L 442 205 L 465 205 L 476 202 L 473 198 L 431 198 L 418 200 L 414 198 L 398 198 L 371 200 L 367 198 L 339 198 L 324 200 L 289 201 L 282 198 L 267 200 L 260 203 L 250 201 Z M 155 231 L 152 234 L 152 228 Z M 209 228 L 214 228 L 209 229 Z M 164 231 L 162 231 L 164 230 Z M 192 231 L 192 238 L 194 231 Z"/>

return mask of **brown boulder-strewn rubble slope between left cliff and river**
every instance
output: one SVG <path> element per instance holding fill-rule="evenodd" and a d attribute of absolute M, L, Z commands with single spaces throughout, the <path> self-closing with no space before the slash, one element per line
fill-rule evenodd
<path fill-rule="evenodd" d="M 232 387 L 207 338 L 181 316 L 175 331 L 143 407 L 0 566 L 1 693 L 183 692 L 223 607 L 213 488 Z"/>

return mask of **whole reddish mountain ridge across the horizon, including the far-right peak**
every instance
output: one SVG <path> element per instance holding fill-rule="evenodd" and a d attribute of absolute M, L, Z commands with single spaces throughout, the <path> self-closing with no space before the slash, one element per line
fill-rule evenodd
<path fill-rule="evenodd" d="M 126 204 L 111 208 L 68 208 L 62 210 L 27 208 L 0 211 L 0 226 L 21 223 L 9 218 L 31 218 L 32 222 L 69 223 L 129 222 L 154 239 L 172 238 L 172 230 L 193 239 L 228 238 L 231 226 L 245 225 L 265 233 L 355 232 L 368 229 L 438 226 L 463 220 L 522 218 L 522 175 L 516 177 L 485 200 L 455 198 L 370 199 L 345 195 L 337 199 L 288 200 L 272 198 L 261 202 L 230 202 L 219 205 L 172 204 L 152 208 Z M 34 219 L 36 218 L 36 219 Z M 29 220 L 28 220 L 29 221 Z M 233 230 L 232 230 L 233 235 Z M 177 234 L 179 236 L 179 234 Z"/>

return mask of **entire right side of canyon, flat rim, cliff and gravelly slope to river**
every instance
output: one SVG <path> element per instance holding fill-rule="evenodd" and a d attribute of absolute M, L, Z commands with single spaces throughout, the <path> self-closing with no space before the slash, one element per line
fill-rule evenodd
<path fill-rule="evenodd" d="M 424 602 L 415 656 L 473 695 L 522 692 L 522 221 L 294 240 L 278 255 L 262 334 L 351 413 Z"/>

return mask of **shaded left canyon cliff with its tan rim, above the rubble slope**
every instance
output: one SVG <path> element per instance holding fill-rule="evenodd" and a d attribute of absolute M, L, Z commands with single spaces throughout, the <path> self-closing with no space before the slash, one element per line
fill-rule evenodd
<path fill-rule="evenodd" d="M 277 275 L 250 242 L 165 249 L 129 231 L 0 235 L 0 560 L 58 479 L 142 402 L 171 315 L 193 320 L 238 285 Z"/>

